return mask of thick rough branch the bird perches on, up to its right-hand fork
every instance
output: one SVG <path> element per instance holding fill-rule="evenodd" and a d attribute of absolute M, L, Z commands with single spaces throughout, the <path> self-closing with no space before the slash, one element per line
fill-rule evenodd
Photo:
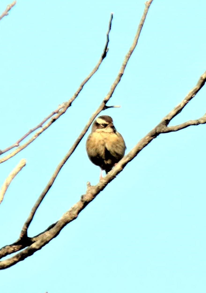
<path fill-rule="evenodd" d="M 112 169 L 97 185 L 91 186 L 90 183 L 87 183 L 87 191 L 86 194 L 82 195 L 79 202 L 77 202 L 73 207 L 71 207 L 70 210 L 68 210 L 54 226 L 51 226 L 51 229 L 47 229 L 44 233 L 30 238 L 28 243 L 33 242 L 28 248 L 21 251 L 20 253 L 16 254 L 15 256 L 3 260 L 0 262 L 0 269 L 8 268 L 15 263 L 18 263 L 21 260 L 24 260 L 28 256 L 34 254 L 35 251 L 41 249 L 44 245 L 49 243 L 53 238 L 55 238 L 60 231 L 66 226 L 68 223 L 72 222 L 74 219 L 76 219 L 79 215 L 79 213 L 91 202 L 94 200 L 94 198 L 103 190 L 106 185 L 112 181 L 118 173 L 120 173 L 123 168 L 126 166 L 126 164 L 131 161 L 144 147 L 146 147 L 147 144 L 149 144 L 155 137 L 156 137 L 156 130 L 152 130 L 149 132 L 141 141 L 132 149 L 127 156 L 124 156 L 122 160 L 119 161 L 119 163 L 115 166 L 115 168 Z M 25 239 L 27 239 L 25 237 Z M 22 239 L 22 242 L 24 239 Z M 22 249 L 23 245 L 17 246 L 16 243 L 14 243 L 15 246 L 12 248 L 11 246 L 5 246 L 2 248 L 4 253 L 1 253 L 1 257 L 8 255 L 9 253 L 17 251 L 19 248 Z M 9 248 L 9 251 L 7 253 L 6 248 Z M 8 250 L 8 249 L 7 249 Z"/>

